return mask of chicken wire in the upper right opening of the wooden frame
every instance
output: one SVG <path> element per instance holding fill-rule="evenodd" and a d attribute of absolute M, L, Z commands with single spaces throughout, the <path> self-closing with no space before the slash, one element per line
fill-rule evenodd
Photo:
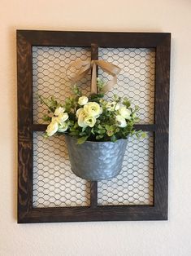
<path fill-rule="evenodd" d="M 154 73 L 155 51 L 152 48 L 99 48 L 100 60 L 106 60 L 121 68 L 118 83 L 107 92 L 128 97 L 132 105 L 140 107 L 140 123 L 154 123 Z M 107 81 L 110 76 L 98 69 L 98 75 Z"/>

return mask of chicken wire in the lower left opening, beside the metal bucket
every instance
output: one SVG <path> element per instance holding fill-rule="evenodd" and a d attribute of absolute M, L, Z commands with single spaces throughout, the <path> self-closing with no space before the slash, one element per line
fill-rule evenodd
<path fill-rule="evenodd" d="M 90 183 L 72 173 L 64 136 L 33 134 L 33 206 L 88 206 Z"/>

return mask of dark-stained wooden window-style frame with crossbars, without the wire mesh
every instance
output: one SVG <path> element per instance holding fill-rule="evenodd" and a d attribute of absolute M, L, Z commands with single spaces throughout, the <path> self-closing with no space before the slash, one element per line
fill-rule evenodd
<path fill-rule="evenodd" d="M 32 46 L 91 46 L 92 59 L 100 47 L 155 48 L 154 124 L 137 125 L 154 132 L 154 205 L 98 205 L 98 183 L 91 183 L 91 204 L 82 207 L 33 208 Z M 168 187 L 168 119 L 171 33 L 102 33 L 17 31 L 18 73 L 18 223 L 166 220 Z"/>

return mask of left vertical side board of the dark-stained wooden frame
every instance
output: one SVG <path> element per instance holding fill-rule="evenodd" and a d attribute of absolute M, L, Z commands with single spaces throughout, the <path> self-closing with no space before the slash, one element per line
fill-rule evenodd
<path fill-rule="evenodd" d="M 18 83 L 18 221 L 32 209 L 33 100 L 31 46 L 17 33 Z"/>

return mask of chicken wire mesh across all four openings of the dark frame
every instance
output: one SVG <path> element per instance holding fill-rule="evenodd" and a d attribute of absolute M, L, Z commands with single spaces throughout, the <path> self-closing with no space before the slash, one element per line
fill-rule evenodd
<path fill-rule="evenodd" d="M 108 92 L 106 97 L 111 98 L 113 94 L 127 95 L 135 104 L 141 106 L 141 122 L 152 123 L 154 120 L 154 51 L 152 49 L 102 48 L 99 49 L 99 57 L 102 60 L 112 61 L 122 68 L 118 86 Z M 46 113 L 46 108 L 41 106 L 36 97 L 37 93 L 44 97 L 54 95 L 60 100 L 71 95 L 71 84 L 66 71 L 69 64 L 79 58 L 90 60 L 89 49 L 33 47 L 34 122 L 42 123 L 43 113 Z M 100 77 L 108 78 L 102 70 L 98 73 Z M 80 83 L 80 87 L 83 93 L 89 93 L 90 73 Z M 59 143 L 60 149 L 54 148 L 54 139 L 54 143 L 62 141 Z M 33 205 L 35 207 L 89 205 L 89 182 L 72 174 L 63 136 L 59 137 L 59 141 L 56 139 L 58 138 L 51 138 L 50 144 L 47 141 L 49 147 L 45 148 L 43 145 L 46 144 L 41 135 L 34 134 Z M 46 157 L 49 156 L 49 159 L 42 161 L 41 154 L 44 154 L 45 150 Z M 129 153 L 131 157 L 127 158 Z M 148 136 L 144 142 L 133 139 L 132 143 L 130 139 L 121 174 L 110 181 L 98 183 L 98 204 L 152 204 L 152 161 L 152 135 Z"/>

